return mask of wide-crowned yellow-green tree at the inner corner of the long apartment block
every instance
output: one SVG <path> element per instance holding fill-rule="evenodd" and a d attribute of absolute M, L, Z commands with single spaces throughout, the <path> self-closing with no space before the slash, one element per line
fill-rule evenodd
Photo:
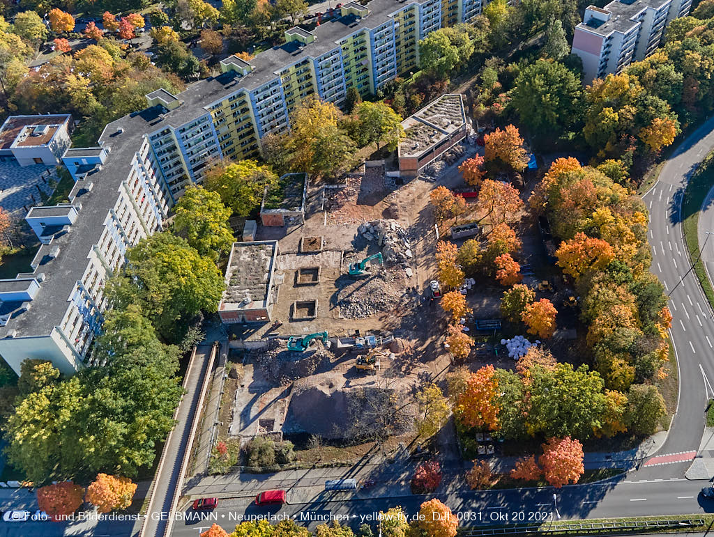
<path fill-rule="evenodd" d="M 238 216 L 248 216 L 258 207 L 263 191 L 276 185 L 278 177 L 256 160 L 218 163 L 206 173 L 203 186 L 221 196 L 223 205 Z"/>

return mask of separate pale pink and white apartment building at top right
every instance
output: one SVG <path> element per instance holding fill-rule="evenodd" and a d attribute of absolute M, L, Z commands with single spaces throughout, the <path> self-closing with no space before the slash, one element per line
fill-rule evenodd
<path fill-rule="evenodd" d="M 650 56 L 670 21 L 689 13 L 691 0 L 614 0 L 588 6 L 575 27 L 573 53 L 583 60 L 583 82 L 620 73 Z"/>

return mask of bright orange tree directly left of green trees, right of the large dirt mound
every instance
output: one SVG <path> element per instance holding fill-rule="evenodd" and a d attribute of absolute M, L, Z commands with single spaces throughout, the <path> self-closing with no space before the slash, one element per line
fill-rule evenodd
<path fill-rule="evenodd" d="M 498 429 L 498 379 L 487 365 L 471 375 L 466 390 L 458 397 L 454 415 L 464 426 Z"/>

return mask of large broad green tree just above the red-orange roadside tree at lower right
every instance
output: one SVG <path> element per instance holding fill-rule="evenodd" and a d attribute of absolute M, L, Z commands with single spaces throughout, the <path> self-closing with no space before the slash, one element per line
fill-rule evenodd
<path fill-rule="evenodd" d="M 600 429 L 605 408 L 603 379 L 587 366 L 558 364 L 552 372 L 539 366 L 531 369 L 527 419 L 532 431 L 545 437 L 587 439 Z"/>

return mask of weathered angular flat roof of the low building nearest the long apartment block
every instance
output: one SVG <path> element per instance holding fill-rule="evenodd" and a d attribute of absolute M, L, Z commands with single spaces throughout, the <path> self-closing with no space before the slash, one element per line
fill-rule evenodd
<path fill-rule="evenodd" d="M 405 137 L 399 144 L 399 156 L 421 155 L 465 123 L 463 96 L 443 95 L 402 122 Z"/>

